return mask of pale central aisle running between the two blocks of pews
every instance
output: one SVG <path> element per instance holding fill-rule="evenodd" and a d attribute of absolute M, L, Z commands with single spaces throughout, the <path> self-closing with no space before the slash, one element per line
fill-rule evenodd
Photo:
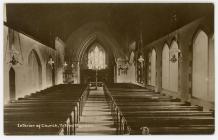
<path fill-rule="evenodd" d="M 116 128 L 113 124 L 103 88 L 90 90 L 76 135 L 115 135 Z"/>

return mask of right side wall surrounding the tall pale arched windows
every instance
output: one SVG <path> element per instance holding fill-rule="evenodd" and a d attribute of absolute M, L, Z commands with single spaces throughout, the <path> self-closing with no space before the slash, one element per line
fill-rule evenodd
<path fill-rule="evenodd" d="M 208 79 L 208 93 L 209 95 L 206 97 L 196 97 L 193 96 L 193 43 L 195 39 L 196 32 L 199 31 L 199 29 L 202 29 L 205 31 L 208 35 L 209 39 L 209 50 L 205 51 L 205 53 L 208 54 L 208 62 L 207 65 L 204 66 L 203 63 L 201 63 L 201 68 L 208 67 L 208 77 L 205 79 Z M 157 52 L 158 50 L 162 51 L 163 45 L 165 43 L 171 44 L 172 40 L 175 39 L 177 36 L 178 38 L 178 45 L 179 49 L 181 50 L 181 61 L 179 62 L 179 82 L 178 82 L 178 92 L 173 92 L 170 90 L 163 89 L 162 93 L 168 93 L 170 96 L 174 96 L 176 98 L 181 98 L 183 101 L 191 102 L 192 104 L 198 104 L 203 107 L 209 107 L 208 104 L 210 104 L 210 109 L 214 109 L 214 96 L 215 96 L 215 77 L 214 77 L 214 40 L 213 38 L 214 34 L 214 25 L 213 20 L 211 20 L 209 17 L 206 18 L 199 18 L 193 22 L 190 22 L 189 24 L 181 27 L 180 29 L 171 32 L 170 34 L 167 34 L 152 43 L 145 46 L 145 52 L 151 50 L 151 48 L 155 48 Z M 147 55 L 148 57 L 149 55 Z M 159 63 L 162 56 L 159 54 L 157 55 L 157 70 L 162 67 L 161 63 Z M 147 71 L 149 75 L 149 70 Z M 157 74 L 157 77 L 162 76 L 161 74 Z M 147 77 L 149 79 L 149 77 Z M 157 83 L 161 82 L 158 81 Z M 149 85 L 149 83 L 148 83 Z M 162 84 L 159 84 L 162 86 Z M 196 86 L 201 87 L 200 84 L 196 84 Z M 205 93 L 205 94 L 208 94 Z"/>

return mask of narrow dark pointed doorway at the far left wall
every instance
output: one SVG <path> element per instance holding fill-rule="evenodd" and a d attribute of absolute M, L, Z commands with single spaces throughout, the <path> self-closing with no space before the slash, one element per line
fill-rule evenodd
<path fill-rule="evenodd" d="M 9 98 L 10 100 L 15 100 L 16 98 L 16 85 L 15 85 L 15 71 L 11 67 L 9 70 Z"/>

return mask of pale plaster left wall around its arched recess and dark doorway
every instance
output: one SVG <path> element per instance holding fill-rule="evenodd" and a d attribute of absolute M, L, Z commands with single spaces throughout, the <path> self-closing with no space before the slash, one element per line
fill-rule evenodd
<path fill-rule="evenodd" d="M 46 83 L 46 78 L 48 78 L 47 77 L 48 75 L 46 75 L 46 64 L 49 60 L 48 57 L 49 55 L 51 55 L 54 58 L 55 62 L 56 62 L 56 58 L 59 57 L 56 56 L 56 53 L 57 51 L 59 51 L 59 49 L 57 50 L 51 49 L 22 33 L 14 31 L 15 34 L 14 46 L 16 49 L 19 50 L 19 38 L 20 38 L 20 45 L 21 45 L 21 52 L 22 52 L 23 59 L 20 55 L 19 61 L 22 63 L 22 65 L 17 64 L 15 66 L 12 66 L 10 63 L 8 63 L 10 61 L 10 55 L 7 53 L 9 50 L 9 44 L 7 43 L 8 42 L 7 34 L 8 34 L 8 27 L 4 26 L 4 55 L 5 55 L 4 56 L 4 103 L 7 103 L 9 101 L 9 70 L 11 67 L 13 67 L 15 70 L 15 85 L 16 85 L 15 91 L 16 91 L 16 99 L 17 99 L 19 97 L 24 97 L 25 95 L 28 95 L 32 92 L 36 92 L 38 90 L 47 88 L 49 86 L 49 84 Z M 61 48 L 61 45 L 58 45 L 57 48 Z M 31 71 L 29 71 L 29 66 L 28 66 L 28 56 L 33 49 L 36 51 L 42 66 L 42 87 L 34 88 L 34 89 L 29 86 L 32 80 L 35 79 L 31 79 L 30 75 L 32 73 L 30 73 Z M 58 54 L 63 55 L 62 52 Z M 61 56 L 61 58 L 62 57 L 63 56 Z M 62 74 L 60 72 L 62 67 L 58 66 L 57 68 L 56 65 L 55 69 L 58 69 L 58 72 L 56 73 L 55 76 L 55 79 L 57 81 L 56 84 L 60 84 L 62 83 L 61 82 L 62 79 L 60 78 L 62 77 Z"/>

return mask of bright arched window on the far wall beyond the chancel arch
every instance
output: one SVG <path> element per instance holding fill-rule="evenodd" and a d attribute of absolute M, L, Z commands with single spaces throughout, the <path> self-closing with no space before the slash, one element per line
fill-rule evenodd
<path fill-rule="evenodd" d="M 98 45 L 93 45 L 88 52 L 88 68 L 89 69 L 105 69 L 105 51 Z"/>

